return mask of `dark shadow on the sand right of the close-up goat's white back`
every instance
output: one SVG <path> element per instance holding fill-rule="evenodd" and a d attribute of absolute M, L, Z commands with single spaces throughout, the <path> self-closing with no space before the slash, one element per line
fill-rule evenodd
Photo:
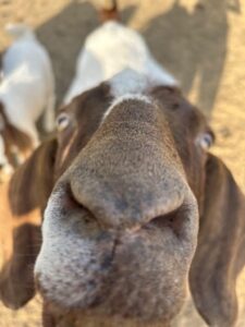
<path fill-rule="evenodd" d="M 198 83 L 196 104 L 208 116 L 228 52 L 226 12 L 223 0 L 204 0 L 192 12 L 175 0 L 168 12 L 155 17 L 143 32 L 155 57 L 181 82 L 185 95 Z"/>

